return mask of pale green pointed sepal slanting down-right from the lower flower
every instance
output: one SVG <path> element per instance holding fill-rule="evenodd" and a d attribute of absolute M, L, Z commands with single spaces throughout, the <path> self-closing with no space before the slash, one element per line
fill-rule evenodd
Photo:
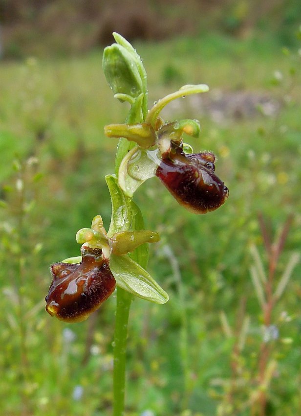
<path fill-rule="evenodd" d="M 117 286 L 138 298 L 163 304 L 169 300 L 168 294 L 151 275 L 127 255 L 111 255 L 110 270 Z"/>

